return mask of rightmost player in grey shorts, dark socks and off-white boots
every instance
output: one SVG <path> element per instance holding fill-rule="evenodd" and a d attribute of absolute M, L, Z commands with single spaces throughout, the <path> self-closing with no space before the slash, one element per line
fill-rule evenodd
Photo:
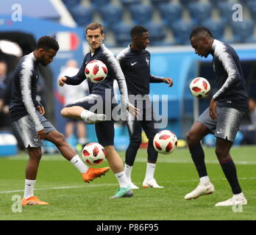
<path fill-rule="evenodd" d="M 213 133 L 216 140 L 216 156 L 232 189 L 232 198 L 216 203 L 216 206 L 246 205 L 247 200 L 238 183 L 235 163 L 230 156 L 230 148 L 243 115 L 249 111 L 240 60 L 235 50 L 227 43 L 213 38 L 209 29 L 197 27 L 191 32 L 191 46 L 201 57 L 213 55 L 213 70 L 216 74 L 218 91 L 213 95 L 210 106 L 199 116 L 187 133 L 188 148 L 200 183 L 196 189 L 185 195 L 185 199 L 199 198 L 214 192 L 207 175 L 205 153 L 200 141 Z"/>

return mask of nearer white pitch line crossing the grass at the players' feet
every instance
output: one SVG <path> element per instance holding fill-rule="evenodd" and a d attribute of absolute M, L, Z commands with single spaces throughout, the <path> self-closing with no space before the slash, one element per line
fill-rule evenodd
<path fill-rule="evenodd" d="M 256 177 L 241 177 L 238 178 L 239 180 L 255 180 Z M 226 178 L 218 178 L 214 179 L 211 178 L 212 181 L 226 181 Z M 162 181 L 162 183 L 183 183 L 183 182 L 196 182 L 199 181 L 199 179 L 191 179 L 191 180 L 179 180 L 179 181 Z M 142 182 L 135 182 L 136 184 L 140 184 Z M 43 188 L 43 189 L 34 189 L 34 190 L 40 190 L 40 191 L 46 191 L 46 190 L 52 190 L 52 189 L 78 189 L 78 188 L 84 188 L 84 187 L 106 187 L 106 186 L 116 186 L 117 184 L 90 184 L 90 185 L 84 185 L 84 186 L 63 186 L 63 187 L 51 187 L 51 188 Z M 12 191 L 0 191 L 0 193 L 12 193 L 12 192 L 24 192 L 24 190 L 12 190 Z"/>

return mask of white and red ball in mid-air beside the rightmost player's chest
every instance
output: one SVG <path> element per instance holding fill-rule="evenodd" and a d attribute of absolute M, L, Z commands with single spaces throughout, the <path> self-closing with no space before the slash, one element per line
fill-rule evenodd
<path fill-rule="evenodd" d="M 207 79 L 198 77 L 192 80 L 189 89 L 191 90 L 191 94 L 196 98 L 205 98 L 210 92 L 210 83 Z"/>

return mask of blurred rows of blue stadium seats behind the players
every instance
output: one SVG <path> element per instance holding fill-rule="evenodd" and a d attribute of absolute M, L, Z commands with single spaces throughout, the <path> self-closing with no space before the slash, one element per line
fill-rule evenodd
<path fill-rule="evenodd" d="M 88 7 L 82 5 L 84 2 L 87 3 L 86 6 Z M 226 39 L 224 41 L 228 40 L 227 42 L 229 43 L 250 43 L 255 41 L 252 35 L 256 21 L 256 0 L 63 0 L 63 3 L 70 10 L 78 26 L 85 26 L 85 24 L 92 22 L 95 11 L 99 12 L 101 17 L 99 22 L 107 30 L 113 30 L 114 37 L 115 34 L 118 34 L 118 31 L 113 29 L 115 24 L 118 24 L 115 29 L 123 25 L 124 30 L 120 29 L 121 32 L 118 34 L 116 40 L 118 45 L 116 46 L 126 45 L 127 41 L 130 40 L 129 32 L 125 32 L 127 28 L 129 29 L 129 24 L 149 26 L 152 30 L 151 44 L 155 46 L 173 44 L 171 43 L 171 37 L 166 37 L 170 33 L 174 35 L 175 43 L 179 45 L 190 43 L 188 37 L 191 26 L 194 27 L 196 25 L 206 26 L 213 33 L 214 37 L 219 40 Z M 250 20 L 254 20 L 254 22 L 249 23 L 246 21 L 243 24 L 235 26 L 232 19 L 233 13 L 235 12 L 235 10 L 232 10 L 232 7 L 235 3 L 243 4 L 246 10 L 243 10 L 243 14 L 246 14 L 243 15 L 243 21 L 249 18 Z M 186 14 L 187 10 L 189 15 Z M 214 20 L 211 18 L 213 10 L 219 12 L 217 15 L 214 12 Z M 156 11 L 158 11 L 158 15 L 155 15 Z M 128 22 L 125 22 L 127 15 L 124 13 L 130 15 Z M 181 20 L 185 20 L 187 23 Z M 126 23 L 129 24 L 127 25 Z M 157 27 L 160 30 L 158 35 L 157 33 L 154 34 L 154 32 L 157 32 L 155 30 Z M 241 35 L 237 34 L 239 27 Z M 231 35 L 230 30 L 226 29 L 232 29 Z M 252 35 L 249 35 L 250 33 Z M 224 38 L 224 35 L 227 38 Z M 162 38 L 162 41 L 160 38 Z M 166 39 L 166 43 L 163 43 L 164 39 Z"/>

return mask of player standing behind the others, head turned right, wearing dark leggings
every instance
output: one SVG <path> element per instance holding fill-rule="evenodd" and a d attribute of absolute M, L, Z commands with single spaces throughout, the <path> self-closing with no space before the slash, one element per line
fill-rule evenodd
<path fill-rule="evenodd" d="M 125 173 L 127 174 L 130 187 L 132 189 L 138 189 L 138 186 L 132 183 L 131 174 L 135 156 L 141 145 L 141 129 L 143 129 L 149 139 L 148 162 L 143 187 L 163 188 L 157 184 L 154 178 L 157 151 L 154 150 L 153 139 L 157 133 L 157 128 L 154 126 L 156 123 L 149 96 L 149 83 L 165 82 L 171 87 L 173 82 L 171 78 L 163 78 L 150 74 L 150 54 L 146 50 L 146 47 L 149 46 L 148 30 L 143 26 L 134 26 L 130 35 L 132 37 L 132 43 L 118 54 L 117 59 L 127 81 L 129 101 L 132 102 L 132 97 L 135 98 L 136 106 L 141 110 L 141 115 L 135 120 L 131 120 L 129 114 L 127 117 L 129 147 L 125 154 Z"/>

